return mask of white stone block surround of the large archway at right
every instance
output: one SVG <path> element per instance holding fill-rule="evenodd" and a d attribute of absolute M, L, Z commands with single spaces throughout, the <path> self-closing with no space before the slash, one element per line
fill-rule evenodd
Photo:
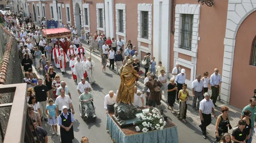
<path fill-rule="evenodd" d="M 245 18 L 255 11 L 252 1 L 228 0 L 226 34 L 224 38 L 224 55 L 222 68 L 222 84 L 220 100 L 229 103 L 236 34 Z M 225 73 L 225 74 L 224 74 Z"/>

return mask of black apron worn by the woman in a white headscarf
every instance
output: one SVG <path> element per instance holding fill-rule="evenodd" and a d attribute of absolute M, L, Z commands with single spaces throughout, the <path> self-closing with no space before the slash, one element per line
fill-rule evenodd
<path fill-rule="evenodd" d="M 61 122 L 64 127 L 69 127 L 71 124 L 71 112 L 68 112 L 68 118 L 66 119 L 63 114 L 60 114 Z M 60 138 L 61 143 L 72 143 L 72 140 L 74 139 L 74 130 L 73 126 L 69 131 L 66 131 L 65 129 L 60 127 Z"/>

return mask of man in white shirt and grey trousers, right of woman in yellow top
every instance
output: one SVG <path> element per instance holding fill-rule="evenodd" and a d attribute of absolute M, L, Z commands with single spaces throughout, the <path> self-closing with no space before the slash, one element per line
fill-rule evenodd
<path fill-rule="evenodd" d="M 192 94 L 193 94 L 193 103 L 192 108 L 193 110 L 199 109 L 199 104 L 203 100 L 203 93 L 204 93 L 204 81 L 201 80 L 201 76 L 199 74 L 196 75 L 196 80 L 192 82 Z M 196 100 L 198 98 L 198 103 L 196 106 Z"/>

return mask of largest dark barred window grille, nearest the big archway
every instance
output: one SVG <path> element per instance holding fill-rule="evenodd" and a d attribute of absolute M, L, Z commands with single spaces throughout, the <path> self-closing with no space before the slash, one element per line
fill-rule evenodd
<path fill-rule="evenodd" d="M 193 33 L 193 14 L 182 14 L 180 48 L 191 51 Z"/>

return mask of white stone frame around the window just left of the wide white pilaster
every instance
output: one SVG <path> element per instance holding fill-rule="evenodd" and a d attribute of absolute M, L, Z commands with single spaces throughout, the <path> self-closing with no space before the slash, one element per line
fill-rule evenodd
<path fill-rule="evenodd" d="M 141 11 L 148 11 L 148 39 L 141 38 Z M 139 3 L 138 4 L 138 38 L 139 42 L 152 44 L 152 4 Z"/>

